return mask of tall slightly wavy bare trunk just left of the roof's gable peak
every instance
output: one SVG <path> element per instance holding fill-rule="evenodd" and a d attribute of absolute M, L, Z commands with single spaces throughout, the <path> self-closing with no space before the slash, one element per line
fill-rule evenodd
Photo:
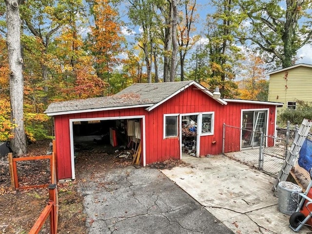
<path fill-rule="evenodd" d="M 170 67 L 170 82 L 174 82 L 176 78 L 176 57 L 178 52 L 178 42 L 177 42 L 177 35 L 176 35 L 176 25 L 177 25 L 177 5 L 176 0 L 172 0 L 171 2 L 172 7 L 172 55 L 171 55 L 171 67 Z"/>

